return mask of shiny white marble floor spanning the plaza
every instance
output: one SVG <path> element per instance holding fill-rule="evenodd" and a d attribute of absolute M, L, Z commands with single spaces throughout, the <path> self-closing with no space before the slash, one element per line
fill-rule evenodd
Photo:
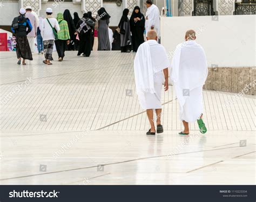
<path fill-rule="evenodd" d="M 204 90 L 207 134 L 179 136 L 170 88 L 165 131 L 146 136 L 133 53 L 33 58 L 0 52 L 0 184 L 255 184 L 255 96 Z"/>

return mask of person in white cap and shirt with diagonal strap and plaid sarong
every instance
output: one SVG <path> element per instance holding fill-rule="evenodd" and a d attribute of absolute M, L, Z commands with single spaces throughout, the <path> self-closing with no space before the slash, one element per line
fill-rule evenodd
<path fill-rule="evenodd" d="M 58 39 L 58 31 L 59 31 L 59 23 L 57 19 L 52 17 L 52 9 L 46 9 L 46 18 L 42 22 L 42 26 L 40 27 L 41 36 L 43 37 L 44 43 L 44 57 L 43 61 L 46 65 L 52 65 L 52 51 L 54 41 Z"/>

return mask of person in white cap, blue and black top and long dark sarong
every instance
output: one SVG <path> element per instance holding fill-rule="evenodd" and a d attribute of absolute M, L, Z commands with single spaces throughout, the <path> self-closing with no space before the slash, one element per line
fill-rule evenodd
<path fill-rule="evenodd" d="M 29 41 L 26 37 L 28 33 L 31 32 L 32 26 L 29 19 L 25 17 L 25 14 L 26 10 L 21 8 L 19 10 L 19 16 L 15 17 L 11 24 L 11 30 L 16 36 L 16 54 L 18 58 L 18 65 L 21 65 L 22 58 L 22 65 L 26 65 L 26 59 L 33 60 Z"/>

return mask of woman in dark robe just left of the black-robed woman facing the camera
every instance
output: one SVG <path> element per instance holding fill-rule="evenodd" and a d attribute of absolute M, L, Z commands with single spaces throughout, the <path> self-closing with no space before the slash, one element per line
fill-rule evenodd
<path fill-rule="evenodd" d="M 129 18 L 129 9 L 124 9 L 123 16 L 120 19 L 118 27 L 120 28 L 121 34 L 121 53 L 130 53 L 131 52 L 131 30 Z"/>

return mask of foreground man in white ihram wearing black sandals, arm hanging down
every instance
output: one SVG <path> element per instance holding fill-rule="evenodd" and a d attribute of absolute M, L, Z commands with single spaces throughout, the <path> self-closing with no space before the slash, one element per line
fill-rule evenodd
<path fill-rule="evenodd" d="M 139 46 L 134 59 L 134 76 L 139 103 L 143 109 L 146 109 L 151 126 L 147 135 L 156 135 L 153 110 L 156 110 L 157 115 L 157 133 L 164 131 L 161 125 L 161 88 L 164 79 L 165 91 L 169 88 L 170 62 L 165 48 L 157 43 L 157 39 L 156 31 L 147 32 L 147 41 Z"/>

